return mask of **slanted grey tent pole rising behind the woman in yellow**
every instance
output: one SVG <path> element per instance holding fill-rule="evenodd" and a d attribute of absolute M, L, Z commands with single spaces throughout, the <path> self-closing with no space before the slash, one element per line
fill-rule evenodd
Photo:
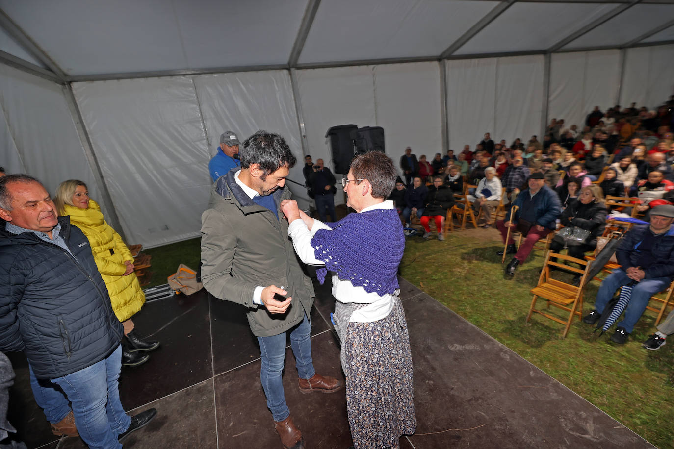
<path fill-rule="evenodd" d="M 98 159 L 96 159 L 96 155 L 94 154 L 94 148 L 92 147 L 89 133 L 87 133 L 86 127 L 84 127 L 82 112 L 80 112 L 80 107 L 78 106 L 77 100 L 75 100 L 75 94 L 73 94 L 73 89 L 70 84 L 67 84 L 63 87 L 63 94 L 65 95 L 65 102 L 68 104 L 70 115 L 73 119 L 73 123 L 75 124 L 75 129 L 78 131 L 80 143 L 82 143 L 82 148 L 84 148 L 84 155 L 86 156 L 91 171 L 94 174 L 94 180 L 96 180 L 96 184 L 98 184 L 98 188 L 100 188 L 100 200 L 103 203 L 106 211 L 106 221 L 108 221 L 113 229 L 117 231 L 117 234 L 119 234 L 121 238 L 126 241 L 124 230 L 121 226 L 121 222 L 119 221 L 119 217 L 117 216 L 115 205 L 113 204 L 113 199 L 110 196 L 110 191 L 108 191 L 108 186 L 105 184 L 103 173 L 100 170 L 100 166 L 98 165 Z"/>

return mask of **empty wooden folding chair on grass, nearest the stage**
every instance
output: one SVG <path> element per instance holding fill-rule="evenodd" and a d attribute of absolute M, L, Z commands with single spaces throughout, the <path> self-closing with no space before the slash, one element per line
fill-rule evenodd
<path fill-rule="evenodd" d="M 557 261 L 551 261 L 551 258 L 557 258 Z M 561 261 L 566 261 L 570 263 L 576 263 L 583 267 L 580 269 L 574 265 L 568 265 L 567 263 L 562 263 Z M 572 271 L 582 275 L 580 279 L 581 287 L 576 287 L 570 283 L 559 281 L 551 277 L 551 267 L 559 267 L 565 271 Z M 531 300 L 531 306 L 529 307 L 529 313 L 526 316 L 526 320 L 530 320 L 532 313 L 537 313 L 549 318 L 553 321 L 557 321 L 560 324 L 564 324 L 564 331 L 562 337 L 566 337 L 569 333 L 569 328 L 571 327 L 571 322 L 574 319 L 574 316 L 578 316 L 580 320 L 583 316 L 583 287 L 585 285 L 585 277 L 588 273 L 588 267 L 590 263 L 588 261 L 582 261 L 579 258 L 572 256 L 567 256 L 565 254 L 558 254 L 556 252 L 548 251 L 545 255 L 545 263 L 543 264 L 543 269 L 541 270 L 541 276 L 539 277 L 539 282 L 536 287 L 531 289 L 533 298 Z M 559 273 L 556 271 L 555 273 Z M 536 308 L 536 303 L 539 298 L 547 301 L 547 307 L 555 306 L 561 310 L 569 312 L 568 318 L 562 319 L 559 316 L 549 314 L 544 310 L 538 310 Z"/>

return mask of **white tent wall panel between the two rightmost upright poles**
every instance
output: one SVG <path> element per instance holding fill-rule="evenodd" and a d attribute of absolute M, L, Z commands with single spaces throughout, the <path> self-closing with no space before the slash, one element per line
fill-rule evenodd
<path fill-rule="evenodd" d="M 552 55 L 548 117 L 563 118 L 582 130 L 586 115 L 615 104 L 620 77 L 619 50 Z"/>

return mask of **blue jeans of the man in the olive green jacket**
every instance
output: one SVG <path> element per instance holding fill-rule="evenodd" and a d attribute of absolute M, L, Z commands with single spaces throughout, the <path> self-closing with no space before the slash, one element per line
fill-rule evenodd
<path fill-rule="evenodd" d="M 272 411 L 274 421 L 283 421 L 290 416 L 281 378 L 286 357 L 286 333 L 257 337 L 257 341 L 262 355 L 259 379 L 267 396 L 267 407 Z M 311 359 L 311 322 L 306 314 L 301 323 L 290 329 L 290 345 L 293 347 L 299 378 L 312 378 L 316 372 Z"/>

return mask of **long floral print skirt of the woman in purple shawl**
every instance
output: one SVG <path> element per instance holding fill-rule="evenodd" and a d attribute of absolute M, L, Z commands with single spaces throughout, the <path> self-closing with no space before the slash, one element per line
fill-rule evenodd
<path fill-rule="evenodd" d="M 400 300 L 375 322 L 350 322 L 344 341 L 346 409 L 356 449 L 400 448 L 417 428 L 412 354 Z"/>

